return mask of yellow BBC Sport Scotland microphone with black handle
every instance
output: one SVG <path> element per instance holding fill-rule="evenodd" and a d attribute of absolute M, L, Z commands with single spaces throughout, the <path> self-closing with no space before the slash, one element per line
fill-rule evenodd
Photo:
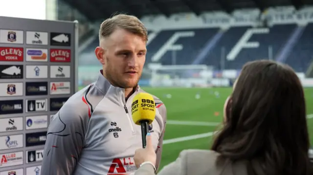
<path fill-rule="evenodd" d="M 141 125 L 142 148 L 146 147 L 148 125 L 156 117 L 156 104 L 153 97 L 148 93 L 138 93 L 132 103 L 132 117 L 136 125 Z"/>

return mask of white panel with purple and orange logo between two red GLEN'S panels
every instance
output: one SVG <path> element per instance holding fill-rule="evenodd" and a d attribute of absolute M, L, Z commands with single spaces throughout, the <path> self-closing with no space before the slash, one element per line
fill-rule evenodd
<path fill-rule="evenodd" d="M 26 49 L 26 61 L 47 62 L 48 49 Z"/>

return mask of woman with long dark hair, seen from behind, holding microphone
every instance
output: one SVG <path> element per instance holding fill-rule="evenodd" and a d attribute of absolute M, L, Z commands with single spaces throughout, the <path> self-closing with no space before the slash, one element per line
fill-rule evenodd
<path fill-rule="evenodd" d="M 184 150 L 158 175 L 313 175 L 303 88 L 289 66 L 246 63 L 224 114 L 211 150 Z M 134 161 L 135 175 L 155 174 L 151 136 Z"/>

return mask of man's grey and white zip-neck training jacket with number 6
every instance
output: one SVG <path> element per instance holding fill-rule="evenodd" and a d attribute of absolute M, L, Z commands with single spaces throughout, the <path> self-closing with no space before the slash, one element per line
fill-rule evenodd
<path fill-rule="evenodd" d="M 41 175 L 129 175 L 134 152 L 142 147 L 141 128 L 132 119 L 134 95 L 103 77 L 75 93 L 52 117 L 47 131 Z M 158 166 L 166 124 L 166 107 L 153 96 L 156 118 L 149 126 Z"/>

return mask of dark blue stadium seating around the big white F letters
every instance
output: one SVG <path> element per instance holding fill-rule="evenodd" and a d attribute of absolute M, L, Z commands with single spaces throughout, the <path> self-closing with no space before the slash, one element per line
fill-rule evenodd
<path fill-rule="evenodd" d="M 176 51 L 158 53 L 157 62 L 169 64 L 207 64 L 220 69 L 241 69 L 243 64 L 256 59 L 277 59 L 291 65 L 297 72 L 305 72 L 313 58 L 313 24 L 297 26 L 296 24 L 274 25 L 267 29 L 267 33 L 253 34 L 248 42 L 258 42 L 254 48 L 243 48 L 234 60 L 227 60 L 226 56 L 248 29 L 252 27 L 231 27 L 227 30 L 219 28 L 162 30 L 151 39 L 147 49 L 146 62 L 153 62 L 162 48 L 175 34 L 191 32 L 192 36 L 180 37 L 174 44 L 182 46 Z M 151 34 L 149 31 L 148 34 Z M 94 48 L 98 45 L 95 39 L 81 54 L 80 65 L 98 65 L 94 58 Z M 221 59 L 224 63 L 221 65 Z M 155 61 L 155 60 L 154 60 Z"/>

